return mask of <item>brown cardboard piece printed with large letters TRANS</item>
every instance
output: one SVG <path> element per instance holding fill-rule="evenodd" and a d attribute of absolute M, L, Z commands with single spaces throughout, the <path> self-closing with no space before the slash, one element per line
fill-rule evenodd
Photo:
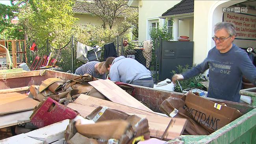
<path fill-rule="evenodd" d="M 234 108 L 219 105 L 206 98 L 187 94 L 185 110 L 192 118 L 211 133 L 239 118 L 243 114 Z"/>

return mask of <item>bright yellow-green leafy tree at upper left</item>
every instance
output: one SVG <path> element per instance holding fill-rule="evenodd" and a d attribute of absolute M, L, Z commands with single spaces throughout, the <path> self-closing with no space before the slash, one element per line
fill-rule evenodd
<path fill-rule="evenodd" d="M 78 20 L 73 17 L 72 0 L 29 0 L 19 6 L 19 25 L 24 30 L 25 39 L 36 41 L 43 46 L 48 39 L 53 47 L 69 41 L 72 26 Z"/>

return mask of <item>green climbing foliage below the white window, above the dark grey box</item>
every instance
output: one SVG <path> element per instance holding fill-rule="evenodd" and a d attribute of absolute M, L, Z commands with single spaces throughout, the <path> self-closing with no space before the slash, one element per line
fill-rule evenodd
<path fill-rule="evenodd" d="M 153 42 L 153 46 L 158 47 L 159 42 L 156 45 L 156 40 L 159 41 L 160 38 L 163 41 L 169 41 L 170 39 L 172 39 L 172 37 L 170 37 L 168 33 L 167 22 L 168 22 L 168 19 L 165 20 L 165 23 L 163 24 L 162 27 L 150 28 L 149 35 Z"/>

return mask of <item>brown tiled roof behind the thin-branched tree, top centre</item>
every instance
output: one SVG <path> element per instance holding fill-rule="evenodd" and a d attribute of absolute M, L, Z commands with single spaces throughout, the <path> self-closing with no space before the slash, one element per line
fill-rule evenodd
<path fill-rule="evenodd" d="M 137 9 L 132 7 L 123 7 L 123 9 L 126 9 L 126 11 L 129 11 L 132 13 L 137 12 Z M 87 2 L 78 2 L 78 1 L 76 1 L 74 6 L 72 7 L 72 11 L 73 13 L 91 13 L 90 11 L 92 11 L 93 13 L 96 13 L 96 14 L 102 14 L 101 11 L 98 10 L 98 7 L 95 6 L 95 4 L 87 3 Z M 120 17 L 128 17 L 128 14 L 121 13 Z"/>

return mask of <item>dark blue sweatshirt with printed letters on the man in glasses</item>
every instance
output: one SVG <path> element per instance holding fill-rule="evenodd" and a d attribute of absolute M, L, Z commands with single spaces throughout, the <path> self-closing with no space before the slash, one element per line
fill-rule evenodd
<path fill-rule="evenodd" d="M 256 85 L 255 66 L 248 54 L 235 44 L 226 53 L 219 52 L 216 47 L 212 48 L 202 63 L 183 73 L 182 76 L 184 79 L 189 79 L 208 68 L 210 98 L 239 102 L 243 75 Z"/>

